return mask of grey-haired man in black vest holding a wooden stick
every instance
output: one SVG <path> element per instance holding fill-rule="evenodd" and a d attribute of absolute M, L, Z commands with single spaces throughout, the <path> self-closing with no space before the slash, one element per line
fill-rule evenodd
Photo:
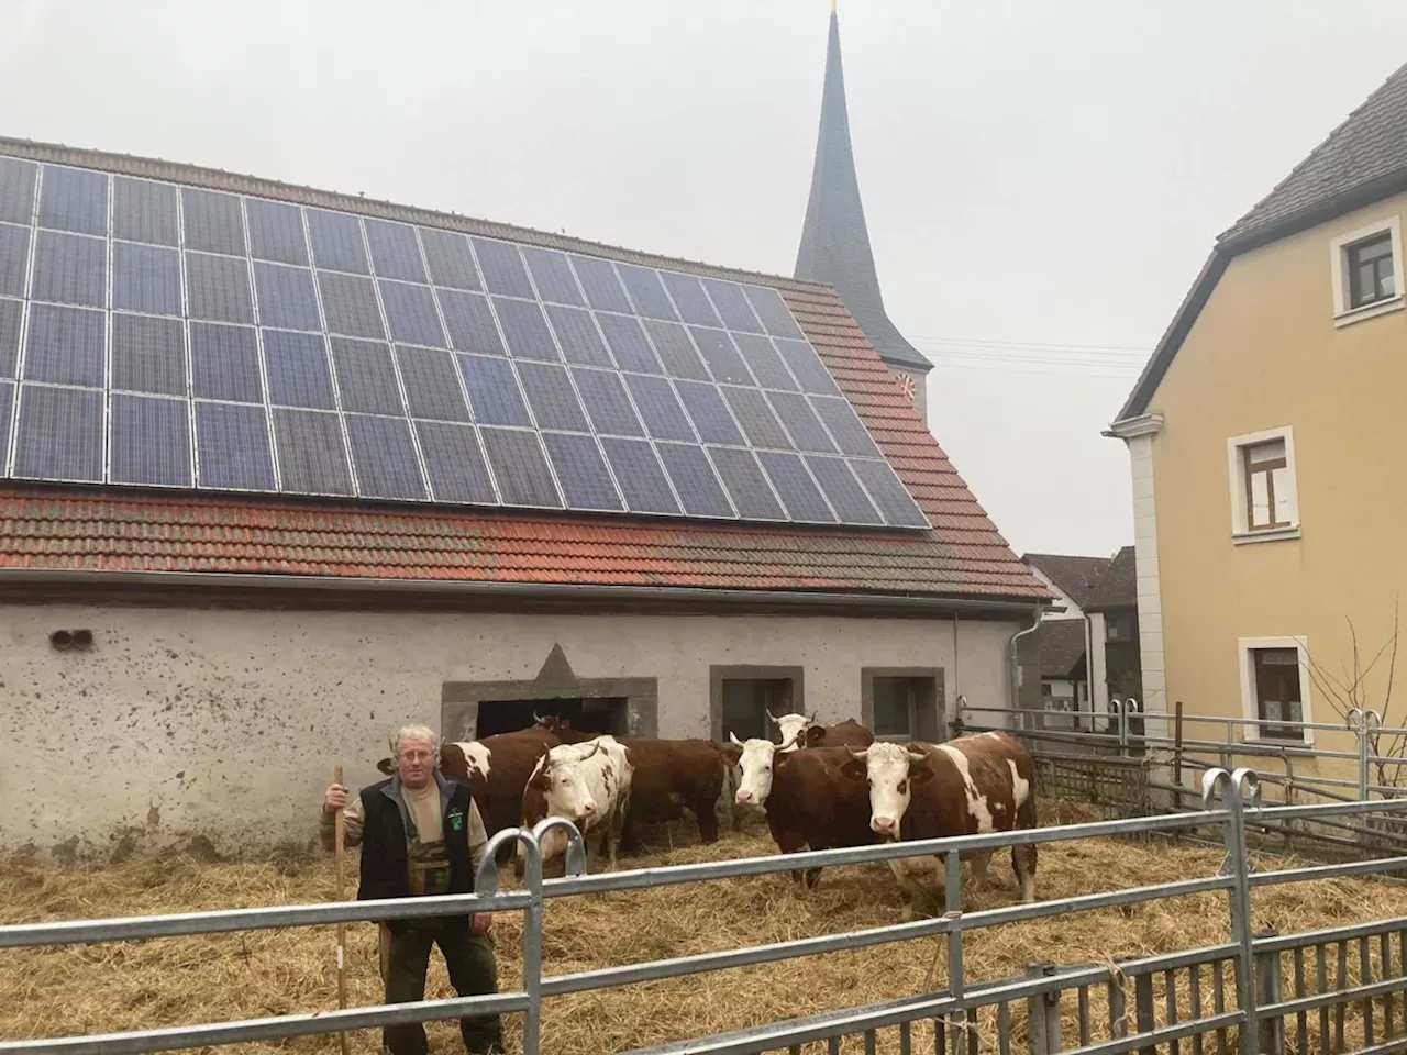
<path fill-rule="evenodd" d="M 343 812 L 345 843 L 362 844 L 357 900 L 470 893 L 488 838 L 467 784 L 440 774 L 439 736 L 425 726 L 405 726 L 391 741 L 395 774 L 363 788 L 348 802 L 340 784 L 322 799 L 319 834 L 335 847 L 333 814 Z M 431 945 L 439 945 L 449 979 L 460 996 L 498 992 L 490 913 L 390 920 L 381 924 L 381 980 L 386 1003 L 425 999 Z M 466 1017 L 460 1035 L 470 1055 L 502 1052 L 499 1016 Z M 421 1023 L 381 1031 L 390 1055 L 426 1055 Z"/>

